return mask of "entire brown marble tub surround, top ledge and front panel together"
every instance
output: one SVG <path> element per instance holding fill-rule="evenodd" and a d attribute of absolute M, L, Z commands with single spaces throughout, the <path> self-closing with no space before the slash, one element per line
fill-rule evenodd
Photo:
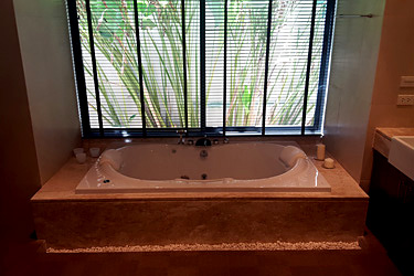
<path fill-rule="evenodd" d="M 315 145 L 300 146 L 330 193 L 75 194 L 96 159 L 72 158 L 32 198 L 36 234 L 53 248 L 354 242 L 363 234 L 368 195 L 339 163 L 325 169 L 314 160 Z"/>

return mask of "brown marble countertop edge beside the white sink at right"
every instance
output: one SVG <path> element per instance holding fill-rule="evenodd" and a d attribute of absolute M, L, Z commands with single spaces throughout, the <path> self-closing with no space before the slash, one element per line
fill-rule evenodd
<path fill-rule="evenodd" d="M 391 139 L 394 136 L 414 136 L 414 128 L 404 127 L 379 127 L 375 129 L 374 140 L 372 144 L 373 149 L 379 151 L 384 157 L 389 158 Z"/>

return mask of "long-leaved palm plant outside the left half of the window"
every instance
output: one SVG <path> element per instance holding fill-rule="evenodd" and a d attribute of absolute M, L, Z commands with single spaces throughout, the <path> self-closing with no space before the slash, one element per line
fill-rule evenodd
<path fill-rule="evenodd" d="M 86 6 L 77 0 L 79 32 L 83 43 L 84 67 L 93 78 L 91 42 Z M 197 9 L 185 9 L 187 43 L 194 44 L 193 26 L 198 21 Z M 135 36 L 134 4 L 127 0 L 91 0 L 93 38 L 97 59 L 97 75 L 103 118 L 113 127 L 129 127 L 139 119 L 139 77 L 137 42 Z M 183 59 L 181 1 L 138 0 L 141 34 L 145 112 L 148 127 L 182 127 L 184 125 Z M 155 55 L 155 53 L 157 53 Z M 198 49 L 187 47 L 188 97 L 190 127 L 199 121 Z M 104 57 L 104 59 L 103 59 Z M 195 73 L 195 74 L 194 74 Z M 92 81 L 89 81 L 92 83 Z M 95 99 L 93 85 L 87 86 Z M 126 91 L 126 93 L 125 93 Z M 119 95 L 120 94 L 120 95 Z M 96 110 L 94 100 L 89 100 Z M 130 114 L 132 113 L 132 114 Z"/>

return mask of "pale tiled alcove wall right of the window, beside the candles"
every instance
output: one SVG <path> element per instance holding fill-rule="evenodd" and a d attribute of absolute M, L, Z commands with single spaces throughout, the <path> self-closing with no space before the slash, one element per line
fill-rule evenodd
<path fill-rule="evenodd" d="M 327 150 L 359 182 L 385 0 L 339 0 L 325 121 Z M 399 1 L 400 2 L 400 1 Z"/>

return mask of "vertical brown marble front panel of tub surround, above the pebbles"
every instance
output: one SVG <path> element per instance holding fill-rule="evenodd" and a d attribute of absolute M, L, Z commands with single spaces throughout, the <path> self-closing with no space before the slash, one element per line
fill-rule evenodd
<path fill-rule="evenodd" d="M 38 237 L 53 248 L 125 245 L 353 242 L 365 202 L 174 200 L 39 202 Z"/>

